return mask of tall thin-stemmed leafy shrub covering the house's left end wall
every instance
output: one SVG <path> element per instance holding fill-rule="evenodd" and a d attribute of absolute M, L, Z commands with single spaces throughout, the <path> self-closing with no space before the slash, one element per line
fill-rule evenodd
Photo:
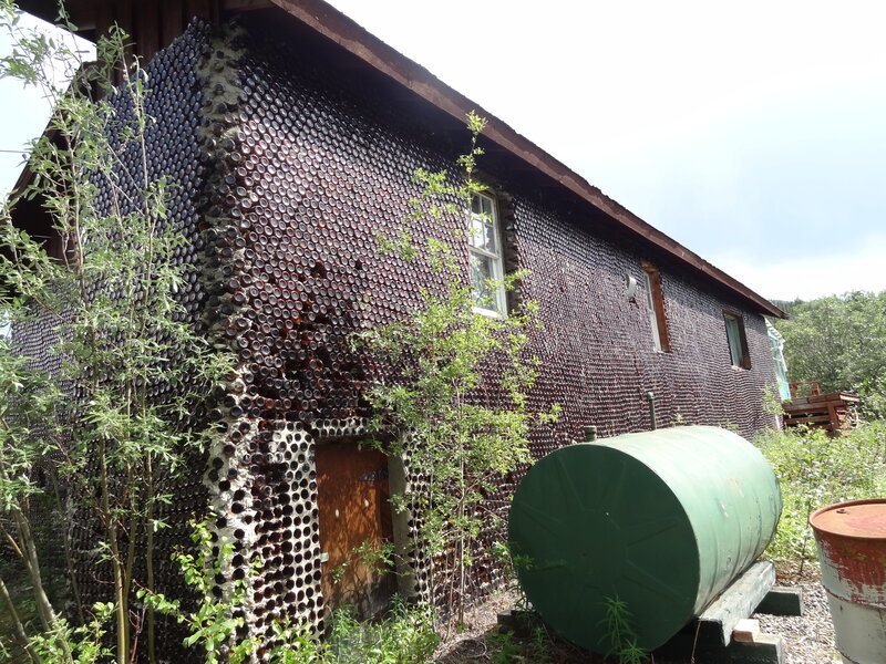
<path fill-rule="evenodd" d="M 63 8 L 59 18 L 72 29 Z M 189 416 L 233 361 L 197 333 L 185 309 L 184 284 L 196 266 L 181 259 L 187 240 L 169 216 L 175 183 L 156 175 L 147 157 L 151 81 L 127 58 L 125 33 L 112 28 L 96 45 L 99 62 L 81 66 L 71 35 L 22 30 L 10 0 L 0 0 L 0 24 L 16 41 L 0 75 L 39 85 L 54 108 L 47 133 L 31 144 L 31 184 L 0 208 L 0 319 L 40 339 L 41 361 L 54 367 L 38 386 L 22 380 L 31 377 L 23 373 L 28 361 L 17 357 L 22 349 L 0 350 L 0 388 L 4 381 L 14 387 L 0 393 L 0 422 L 8 423 L 0 432 L 0 509 L 25 519 L 40 490 L 38 459 L 62 480 L 71 508 L 97 529 L 95 550 L 113 579 L 114 657 L 123 664 L 142 627 L 131 623 L 130 589 L 152 590 L 151 542 L 167 525 L 158 509 L 168 502 L 165 483 L 213 435 L 190 429 Z M 62 71 L 70 75 L 56 76 Z M 47 238 L 12 225 L 24 200 L 51 221 L 52 256 Z M 27 519 L 17 526 L 17 547 L 35 550 Z M 40 593 L 35 554 L 28 564 Z M 136 578 L 140 569 L 148 570 L 146 579 Z M 52 636 L 58 621 L 51 606 L 42 613 L 48 647 L 71 651 L 66 640 L 79 633 Z M 150 633 L 152 612 L 145 622 Z"/>

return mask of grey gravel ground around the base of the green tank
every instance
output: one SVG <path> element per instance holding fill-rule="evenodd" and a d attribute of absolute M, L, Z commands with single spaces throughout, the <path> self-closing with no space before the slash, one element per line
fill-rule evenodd
<path fill-rule="evenodd" d="M 803 590 L 805 611 L 802 616 L 754 614 L 763 633 L 780 634 L 784 637 L 785 664 L 839 664 L 841 658 L 834 646 L 834 626 L 827 609 L 827 598 L 818 582 L 817 571 L 805 566 L 803 574 L 797 570 L 782 570 L 779 585 L 800 587 Z M 496 643 L 498 613 L 509 611 L 517 600 L 515 592 L 504 592 L 491 596 L 466 616 L 467 629 L 450 633 L 436 653 L 439 664 L 484 664 L 494 662 L 501 649 Z M 552 644 L 552 660 L 555 663 L 604 662 L 601 657 L 579 651 L 564 642 Z M 532 660 L 514 661 L 530 663 Z M 687 662 L 686 664 L 689 664 Z"/>

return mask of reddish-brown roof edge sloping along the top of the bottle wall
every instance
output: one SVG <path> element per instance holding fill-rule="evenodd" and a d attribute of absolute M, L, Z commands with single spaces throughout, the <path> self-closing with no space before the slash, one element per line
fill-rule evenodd
<path fill-rule="evenodd" d="M 151 0 L 138 1 L 151 2 Z M 186 3 L 188 6 L 208 4 L 206 0 L 186 0 Z M 49 0 L 22 0 L 20 2 L 22 9 L 47 20 L 52 20 L 55 14 L 54 9 L 51 12 L 47 9 L 50 4 L 54 7 L 54 2 L 50 3 Z M 112 3 L 109 0 L 71 0 L 69 2 L 74 22 L 76 23 L 80 19 L 84 28 L 87 28 L 84 33 L 89 34 L 89 30 L 95 25 L 94 10 L 102 4 Z M 483 135 L 487 139 L 602 211 L 631 235 L 639 236 L 646 242 L 672 257 L 677 263 L 702 272 L 739 294 L 761 313 L 776 318 L 785 317 L 784 312 L 772 302 L 604 195 L 565 164 L 322 0 L 217 0 L 220 12 L 215 10 L 214 15 L 217 17 L 227 11 L 265 9 L 271 6 L 286 11 L 374 70 L 452 115 L 459 122 L 463 122 L 468 112 L 476 111 L 487 120 L 486 128 L 483 131 Z M 90 9 L 93 10 L 93 14 L 90 14 Z M 78 17 L 78 12 L 81 12 L 82 18 Z"/>

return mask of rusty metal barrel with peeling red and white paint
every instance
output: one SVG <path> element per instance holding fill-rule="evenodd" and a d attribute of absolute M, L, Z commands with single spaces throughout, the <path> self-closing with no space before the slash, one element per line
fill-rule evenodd
<path fill-rule="evenodd" d="M 822 585 L 836 644 L 852 664 L 886 662 L 886 498 L 853 500 L 814 512 Z"/>

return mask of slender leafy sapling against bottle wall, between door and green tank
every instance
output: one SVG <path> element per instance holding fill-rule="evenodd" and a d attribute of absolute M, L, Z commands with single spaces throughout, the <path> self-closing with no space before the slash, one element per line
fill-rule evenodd
<path fill-rule="evenodd" d="M 398 513 L 416 513 L 416 547 L 431 559 L 453 560 L 440 581 L 459 587 L 445 594 L 460 620 L 467 601 L 466 568 L 480 553 L 475 540 L 494 521 L 486 500 L 508 474 L 532 463 L 529 425 L 553 422 L 558 414 L 556 407 L 543 415 L 527 409 L 537 360 L 524 349 L 528 330 L 538 325 L 537 305 L 524 302 L 504 317 L 475 313 L 459 258 L 460 252 L 466 256 L 466 241 L 462 248 L 436 237 L 416 243 L 410 230 L 426 217 L 439 228 L 454 222 L 451 236 L 467 239 L 472 199 L 484 188 L 473 172 L 485 121 L 472 113 L 467 126 L 471 148 L 459 160 L 461 181 L 446 172 L 416 170 L 413 181 L 422 193 L 411 203 L 404 230 L 395 239 L 381 238 L 381 251 L 425 260 L 440 276 L 440 288 L 422 289 L 422 303 L 408 318 L 367 330 L 357 340 L 388 367 L 367 393 L 371 428 L 385 440 L 379 446 L 405 459 L 423 486 L 393 496 L 392 505 Z M 514 290 L 523 278 L 523 272 L 508 274 L 502 286 Z"/>

